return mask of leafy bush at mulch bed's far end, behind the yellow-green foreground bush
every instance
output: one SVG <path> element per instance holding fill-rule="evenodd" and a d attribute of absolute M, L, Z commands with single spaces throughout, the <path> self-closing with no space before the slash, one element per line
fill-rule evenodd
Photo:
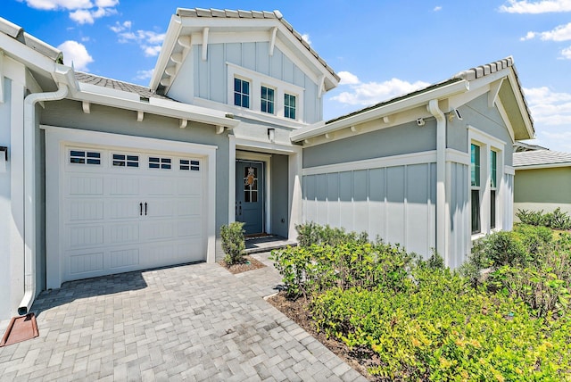
<path fill-rule="evenodd" d="M 282 275 L 287 295 L 305 297 L 332 287 L 398 290 L 413 256 L 399 245 L 362 244 L 358 240 L 340 245 L 310 245 L 274 250 L 271 259 Z"/>

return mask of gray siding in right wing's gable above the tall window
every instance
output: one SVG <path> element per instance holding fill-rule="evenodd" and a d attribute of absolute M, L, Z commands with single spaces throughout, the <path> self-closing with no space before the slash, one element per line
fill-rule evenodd
<path fill-rule="evenodd" d="M 512 165 L 512 140 L 508 128 L 501 119 L 497 107 L 488 107 L 488 95 L 480 95 L 476 99 L 459 107 L 462 120 L 454 118 L 447 125 L 447 147 L 468 153 L 468 130 L 466 125 L 483 131 L 506 143 L 504 151 L 504 164 Z"/>

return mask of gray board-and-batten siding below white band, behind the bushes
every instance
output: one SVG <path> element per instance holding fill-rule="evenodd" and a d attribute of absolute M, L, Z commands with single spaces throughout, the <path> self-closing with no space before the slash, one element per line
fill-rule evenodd
<path fill-rule="evenodd" d="M 404 245 L 427 256 L 435 246 L 435 163 L 303 177 L 303 220 Z"/>

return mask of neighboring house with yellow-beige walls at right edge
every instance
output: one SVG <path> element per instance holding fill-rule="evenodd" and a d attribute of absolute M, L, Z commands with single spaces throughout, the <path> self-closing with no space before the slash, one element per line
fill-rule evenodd
<path fill-rule="evenodd" d="M 545 148 L 514 153 L 514 212 L 571 214 L 571 154 Z"/>

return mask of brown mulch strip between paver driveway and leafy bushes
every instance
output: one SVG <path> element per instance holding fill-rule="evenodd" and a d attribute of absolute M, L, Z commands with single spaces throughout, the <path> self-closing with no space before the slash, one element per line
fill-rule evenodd
<path fill-rule="evenodd" d="M 315 337 L 321 344 L 325 345 L 327 349 L 347 362 L 354 370 L 359 371 L 363 377 L 371 381 L 381 380 L 368 373 L 368 368 L 379 365 L 376 354 L 366 348 L 350 348 L 343 344 L 343 342 L 337 341 L 334 338 L 327 338 L 325 333 L 318 332 L 311 320 L 308 302 L 304 298 L 291 300 L 285 296 L 285 292 L 280 292 L 277 295 L 269 297 L 267 300 L 274 305 L 278 311 L 281 311 L 291 320 L 294 320 L 297 325 Z"/>

